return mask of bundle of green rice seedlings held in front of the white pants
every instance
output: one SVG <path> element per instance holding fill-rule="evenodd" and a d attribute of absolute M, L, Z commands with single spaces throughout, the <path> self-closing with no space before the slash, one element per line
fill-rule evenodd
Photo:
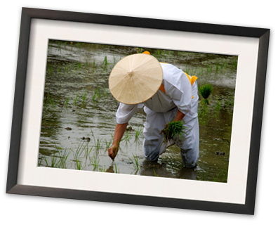
<path fill-rule="evenodd" d="M 185 129 L 187 127 L 184 126 L 184 122 L 182 121 L 173 121 L 168 122 L 168 124 L 165 124 L 165 127 L 163 130 L 161 130 L 160 134 L 164 134 L 164 142 L 167 143 L 167 141 L 173 139 L 174 137 L 180 137 L 180 140 L 183 140 L 183 134 L 185 133 Z"/>

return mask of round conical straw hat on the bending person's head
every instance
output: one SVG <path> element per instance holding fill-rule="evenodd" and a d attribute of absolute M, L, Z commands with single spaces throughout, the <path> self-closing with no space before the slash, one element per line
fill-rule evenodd
<path fill-rule="evenodd" d="M 163 79 L 159 61 L 147 54 L 134 54 L 119 60 L 109 77 L 109 89 L 120 103 L 143 103 L 157 93 Z"/>

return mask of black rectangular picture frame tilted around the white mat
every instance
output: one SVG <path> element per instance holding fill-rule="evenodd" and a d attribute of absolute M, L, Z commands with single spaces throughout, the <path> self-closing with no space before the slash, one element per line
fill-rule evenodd
<path fill-rule="evenodd" d="M 112 18 L 108 15 L 101 17 L 95 17 L 95 14 L 92 13 L 77 13 L 71 11 L 58 11 L 51 10 L 42 10 L 35 8 L 22 8 L 21 13 L 21 24 L 20 24 L 20 40 L 18 45 L 18 65 L 17 65 L 17 77 L 15 82 L 15 101 L 13 108 L 13 124 L 11 132 L 11 145 L 10 145 L 10 154 L 8 162 L 8 178 L 6 193 L 13 194 L 24 194 L 24 195 L 38 195 L 38 196 L 48 196 L 53 198 L 67 198 L 68 195 L 71 195 L 73 199 L 78 200 L 95 200 L 95 201 L 105 201 L 112 203 L 124 203 L 130 204 L 136 202 L 138 205 L 150 205 L 150 206 L 161 206 L 165 207 L 176 207 L 180 209 L 190 209 L 190 210 L 209 210 L 213 212 L 232 212 L 240 214 L 253 214 L 254 203 L 255 203 L 255 193 L 256 193 L 256 176 L 258 169 L 258 154 L 260 152 L 260 131 L 261 131 L 261 121 L 263 116 L 262 110 L 256 110 L 253 114 L 253 124 L 252 124 L 252 139 L 251 139 L 251 155 L 249 158 L 249 179 L 246 189 L 246 204 L 245 205 L 231 205 L 223 203 L 211 203 L 211 202 L 199 202 L 194 200 L 178 200 L 178 199 L 164 199 L 164 198 L 153 198 L 137 195 L 121 195 L 114 193 L 88 193 L 88 191 L 72 191 L 72 190 L 61 190 L 58 188 L 38 188 L 32 186 L 22 186 L 17 185 L 17 176 L 18 176 L 18 155 L 19 155 L 19 146 L 20 146 L 20 132 L 21 132 L 21 122 L 22 122 L 22 105 L 24 103 L 24 84 L 26 76 L 26 58 L 27 58 L 27 48 L 29 39 L 29 25 L 31 18 L 48 18 L 54 20 L 68 20 L 68 21 L 79 21 L 86 23 L 113 23 L 114 25 L 125 25 L 126 18 L 121 16 L 113 16 Z M 74 15 L 74 16 L 73 16 Z M 92 16 L 88 16 L 92 15 Z M 117 19 L 116 19 L 117 18 Z M 144 22 L 145 21 L 145 22 Z M 151 21 L 151 23 L 150 23 Z M 216 31 L 216 27 L 219 28 L 219 25 L 205 26 L 202 27 L 199 23 L 183 23 L 184 21 L 175 21 L 173 26 L 173 21 L 169 22 L 168 20 L 164 21 L 163 25 L 158 23 L 158 20 L 150 20 L 147 18 L 133 18 L 128 20 L 127 26 L 138 26 L 138 27 L 150 27 L 154 29 L 170 29 L 170 30 L 184 30 L 190 32 L 205 32 L 213 33 Z M 168 23 L 167 23 L 168 22 Z M 200 25 L 200 26 L 196 26 Z M 183 27 L 181 29 L 180 27 Z M 221 26 L 225 28 L 225 26 Z M 240 29 L 242 27 L 232 27 L 232 29 L 219 29 L 218 34 L 225 35 L 238 35 L 244 37 L 257 37 L 260 38 L 260 57 L 258 60 L 258 70 L 257 73 L 260 76 L 257 76 L 256 80 L 256 96 L 254 101 L 254 108 L 263 104 L 263 96 L 265 91 L 265 65 L 267 56 L 267 46 L 269 39 L 269 30 L 252 28 L 250 29 Z M 263 58 L 263 60 L 260 60 Z M 258 90 L 258 91 L 257 91 Z M 258 106 L 257 106 L 258 105 Z M 88 194 L 91 195 L 88 198 Z M 104 200 L 105 199 L 105 200 Z"/>

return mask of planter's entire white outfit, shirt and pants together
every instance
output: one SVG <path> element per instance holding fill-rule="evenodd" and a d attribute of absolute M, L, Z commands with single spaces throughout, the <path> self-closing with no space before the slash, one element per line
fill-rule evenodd
<path fill-rule="evenodd" d="M 174 139 L 180 148 L 180 154 L 185 167 L 196 166 L 199 158 L 199 123 L 198 123 L 198 85 L 197 82 L 191 85 L 187 75 L 171 64 L 161 63 L 163 70 L 163 81 L 165 94 L 163 91 L 157 91 L 152 98 L 138 105 L 126 105 L 120 103 L 116 113 L 118 124 L 124 124 L 131 120 L 136 113 L 137 108 L 142 108 L 147 114 L 144 123 L 143 152 L 147 160 L 157 160 L 159 155 L 165 152 L 164 137 L 161 130 L 164 125 L 173 120 L 178 110 L 185 114 L 186 134 L 185 141 Z M 193 98 L 192 98 L 193 96 Z"/>

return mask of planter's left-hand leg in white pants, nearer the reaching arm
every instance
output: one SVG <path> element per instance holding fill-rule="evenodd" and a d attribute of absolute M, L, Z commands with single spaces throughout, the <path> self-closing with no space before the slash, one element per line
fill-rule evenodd
<path fill-rule="evenodd" d="M 164 136 L 160 134 L 166 124 L 164 113 L 155 113 L 147 107 L 144 107 L 144 110 L 147 117 L 143 130 L 143 153 L 146 160 L 155 161 L 172 143 L 168 143 L 166 146 Z"/>

